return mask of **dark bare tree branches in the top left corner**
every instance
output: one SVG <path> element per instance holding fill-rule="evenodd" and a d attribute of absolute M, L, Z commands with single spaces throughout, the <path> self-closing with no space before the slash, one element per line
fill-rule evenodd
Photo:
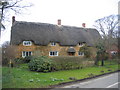
<path fill-rule="evenodd" d="M 25 1 L 25 0 L 24 0 Z M 9 12 L 14 11 L 16 14 L 21 14 L 23 9 L 31 7 L 31 3 L 22 3 L 23 0 L 1 0 L 0 1 L 0 37 L 1 27 L 5 28 L 2 22 L 6 19 Z"/>

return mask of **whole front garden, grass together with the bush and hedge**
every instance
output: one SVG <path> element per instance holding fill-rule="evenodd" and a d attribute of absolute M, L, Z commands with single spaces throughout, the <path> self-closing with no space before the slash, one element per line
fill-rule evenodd
<path fill-rule="evenodd" d="M 12 63 L 2 67 L 3 88 L 49 88 L 119 70 L 117 59 L 105 60 L 104 66 L 101 61 L 94 65 L 93 60 L 78 57 L 26 57 Z"/>

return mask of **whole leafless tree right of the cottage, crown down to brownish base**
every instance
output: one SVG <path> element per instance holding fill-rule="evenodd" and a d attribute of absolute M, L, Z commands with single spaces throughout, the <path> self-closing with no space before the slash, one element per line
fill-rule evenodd
<path fill-rule="evenodd" d="M 113 45 L 118 47 L 118 15 L 110 15 L 95 21 L 96 29 L 100 32 L 103 44 L 109 52 Z"/>

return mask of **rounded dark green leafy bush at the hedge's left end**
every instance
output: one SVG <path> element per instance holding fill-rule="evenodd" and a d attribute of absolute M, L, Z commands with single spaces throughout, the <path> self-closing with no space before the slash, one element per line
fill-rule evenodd
<path fill-rule="evenodd" d="M 33 58 L 29 63 L 28 67 L 31 71 L 38 72 L 50 72 L 52 68 L 52 60 L 46 56 L 39 56 Z"/>

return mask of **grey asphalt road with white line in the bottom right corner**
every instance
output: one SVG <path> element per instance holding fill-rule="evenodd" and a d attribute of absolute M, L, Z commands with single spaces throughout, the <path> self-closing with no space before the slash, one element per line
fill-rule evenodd
<path fill-rule="evenodd" d="M 120 72 L 119 76 L 118 73 L 113 73 L 99 78 L 83 81 L 77 84 L 64 86 L 62 88 L 118 88 L 118 86 L 120 86 L 119 80 Z"/>

